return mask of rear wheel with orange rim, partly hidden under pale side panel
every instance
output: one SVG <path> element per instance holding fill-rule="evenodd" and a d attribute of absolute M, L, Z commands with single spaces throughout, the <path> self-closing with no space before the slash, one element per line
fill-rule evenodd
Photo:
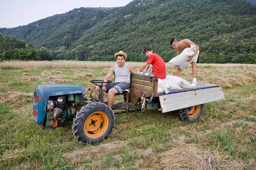
<path fill-rule="evenodd" d="M 188 121 L 188 122 L 196 121 L 199 118 L 199 116 L 202 114 L 203 107 L 204 107 L 204 104 L 180 109 L 180 113 L 179 113 L 180 119 L 182 121 Z"/>

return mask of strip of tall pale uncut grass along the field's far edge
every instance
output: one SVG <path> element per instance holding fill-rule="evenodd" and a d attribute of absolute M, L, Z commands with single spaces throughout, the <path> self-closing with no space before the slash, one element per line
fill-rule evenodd
<path fill-rule="evenodd" d="M 110 68 L 116 62 L 107 62 L 107 61 L 5 61 L 0 63 L 0 69 L 53 69 L 53 68 Z M 126 62 L 131 64 L 134 68 L 139 68 L 143 65 L 144 62 Z M 165 64 L 166 68 L 174 68 L 170 64 Z M 256 64 L 204 64 L 198 63 L 198 68 L 235 68 L 235 67 L 251 67 L 256 68 Z M 188 65 L 187 68 L 191 68 L 191 65 Z"/>

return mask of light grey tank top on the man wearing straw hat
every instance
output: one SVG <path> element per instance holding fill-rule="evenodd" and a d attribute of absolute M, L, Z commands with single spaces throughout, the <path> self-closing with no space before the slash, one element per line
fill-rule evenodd
<path fill-rule="evenodd" d="M 114 74 L 115 74 L 115 83 L 129 83 L 131 72 L 128 71 L 128 64 L 124 63 L 124 66 L 119 68 L 118 64 L 115 65 Z"/>

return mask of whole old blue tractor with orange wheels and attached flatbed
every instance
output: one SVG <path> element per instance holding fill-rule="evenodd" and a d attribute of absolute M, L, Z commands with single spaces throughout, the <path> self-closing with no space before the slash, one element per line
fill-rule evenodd
<path fill-rule="evenodd" d="M 97 143 L 107 138 L 115 125 L 115 114 L 144 110 L 162 113 L 179 110 L 182 121 L 196 121 L 203 104 L 224 99 L 218 85 L 199 83 L 195 89 L 158 93 L 158 77 L 131 74 L 131 87 L 123 92 L 124 102 L 112 108 L 103 102 L 102 80 L 91 80 L 100 87 L 99 99 L 88 100 L 82 85 L 38 85 L 34 91 L 33 120 L 43 129 L 72 125 L 74 137 L 81 143 Z M 117 112 L 113 112 L 117 110 Z M 124 110 L 124 111 L 120 111 Z"/>

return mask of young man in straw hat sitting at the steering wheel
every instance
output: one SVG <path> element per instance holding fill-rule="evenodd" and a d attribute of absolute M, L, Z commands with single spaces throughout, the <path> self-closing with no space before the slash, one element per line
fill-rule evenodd
<path fill-rule="evenodd" d="M 113 65 L 108 74 L 104 78 L 104 82 L 108 81 L 113 74 L 115 74 L 115 82 L 103 83 L 102 91 L 108 93 L 108 106 L 112 107 L 115 101 L 115 94 L 122 94 L 124 90 L 130 88 L 130 76 L 131 73 L 138 74 L 136 70 L 129 64 L 124 63 L 127 58 L 127 54 L 123 51 L 115 53 L 117 64 Z M 97 94 L 99 96 L 99 86 L 96 86 Z"/>

